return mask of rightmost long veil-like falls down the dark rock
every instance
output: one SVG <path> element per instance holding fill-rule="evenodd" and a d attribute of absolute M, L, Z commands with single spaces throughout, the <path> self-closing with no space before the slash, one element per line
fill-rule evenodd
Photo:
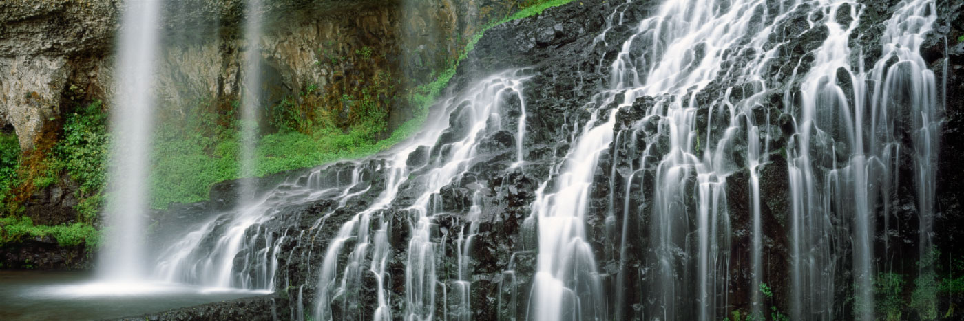
<path fill-rule="evenodd" d="M 837 21 L 844 10 L 849 22 Z M 900 127 L 911 129 L 915 180 L 920 202 L 922 259 L 930 249 L 937 88 L 921 57 L 924 34 L 936 20 L 933 1 L 905 2 L 886 23 L 880 59 L 870 70 L 852 64 L 867 53 L 853 53 L 848 41 L 862 8 L 828 6 L 829 36 L 800 88 L 796 134 L 789 149 L 793 200 L 793 314 L 796 318 L 832 318 L 835 279 L 844 252 L 837 244 L 852 241 L 855 316 L 872 320 L 874 212 L 890 213 L 897 190 Z M 890 62 L 897 59 L 896 63 Z M 909 113 L 910 123 L 901 124 Z M 843 150 L 839 150 L 843 149 Z M 843 159 L 841 159 L 843 157 Z M 841 235 L 839 224 L 852 231 Z M 886 221 L 885 221 L 886 222 Z M 885 223 L 886 228 L 886 223 Z M 805 309 L 809 309 L 806 311 Z"/>

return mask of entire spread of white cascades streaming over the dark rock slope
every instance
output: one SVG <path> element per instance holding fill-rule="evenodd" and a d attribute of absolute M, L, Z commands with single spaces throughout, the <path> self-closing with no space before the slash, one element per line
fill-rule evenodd
<path fill-rule="evenodd" d="M 155 275 L 293 288 L 292 318 L 314 320 L 479 318 L 474 291 L 492 284 L 497 302 L 485 299 L 506 319 L 776 318 L 765 284 L 786 277 L 790 307 L 780 309 L 793 319 L 873 319 L 875 227 L 901 161 L 914 163 L 922 255 L 931 246 L 940 119 L 920 46 L 933 1 L 898 6 L 879 57 L 852 43 L 868 10 L 859 3 L 666 1 L 649 16 L 634 5 L 608 7 L 603 33 L 590 36 L 588 51 L 605 52 L 593 68 L 603 85 L 565 111 L 559 142 L 531 141 L 546 137 L 531 124 L 549 107 L 522 85 L 545 66 L 460 84 L 392 149 L 202 220 L 162 251 Z M 246 95 L 258 91 L 257 24 L 247 24 Z M 490 155 L 499 148 L 510 153 Z M 489 241 L 479 235 L 500 209 L 491 194 L 502 186 L 476 169 L 490 161 L 541 181 L 522 206 L 526 245 L 498 280 L 473 275 Z M 780 177 L 782 212 L 763 187 Z M 282 266 L 292 261 L 307 263 Z"/>

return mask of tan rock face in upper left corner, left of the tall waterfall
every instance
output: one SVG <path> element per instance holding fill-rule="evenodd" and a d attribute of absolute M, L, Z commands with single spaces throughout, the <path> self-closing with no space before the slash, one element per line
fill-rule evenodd
<path fill-rule="evenodd" d="M 117 1 L 5 1 L 0 4 L 0 124 L 23 150 L 56 131 L 69 84 L 99 86 L 97 64 L 113 41 Z M 79 89 L 79 88 L 78 88 Z M 97 89 L 94 89 L 96 91 Z"/>

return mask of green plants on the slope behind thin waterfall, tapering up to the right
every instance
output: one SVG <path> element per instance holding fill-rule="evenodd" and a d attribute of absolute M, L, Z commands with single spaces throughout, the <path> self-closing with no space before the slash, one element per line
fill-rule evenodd
<path fill-rule="evenodd" d="M 398 77 L 388 70 L 376 71 L 358 82 L 362 86 L 329 87 L 320 96 L 315 85 L 304 87 L 297 95 L 284 97 L 266 109 L 274 133 L 261 136 L 256 144 L 256 176 L 317 166 L 335 160 L 358 159 L 384 151 L 417 132 L 428 116 L 428 109 L 455 75 L 485 31 L 500 23 L 532 16 L 572 0 L 530 1 L 521 11 L 483 26 L 471 37 L 458 59 L 445 68 L 432 83 L 418 86 L 398 97 Z M 319 51 L 333 64 L 348 58 L 334 51 Z M 385 59 L 370 47 L 355 51 L 362 63 L 376 64 Z M 318 62 L 320 63 L 320 62 Z M 364 68 L 362 68 L 364 69 Z M 347 83 L 347 82 L 345 82 Z M 407 121 L 388 132 L 387 110 L 393 102 L 405 101 L 413 107 Z M 165 209 L 171 203 L 205 200 L 211 185 L 239 177 L 238 155 L 241 148 L 236 129 L 238 103 L 201 106 L 193 116 L 160 125 L 155 136 L 151 171 L 151 207 Z M 210 110 L 214 108 L 216 112 Z M 350 111 L 345 117 L 339 112 Z M 196 114 L 201 114 L 197 116 Z"/>

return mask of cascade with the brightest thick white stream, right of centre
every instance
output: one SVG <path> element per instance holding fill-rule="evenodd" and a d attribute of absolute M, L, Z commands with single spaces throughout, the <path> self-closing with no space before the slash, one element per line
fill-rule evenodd
<path fill-rule="evenodd" d="M 617 12 L 619 10 L 617 9 Z M 534 286 L 533 295 L 541 298 L 553 296 L 553 293 L 574 293 L 571 294 L 574 297 L 571 299 L 565 299 L 561 295 L 554 295 L 547 302 L 540 299 L 536 303 L 536 308 L 533 309 L 539 312 L 537 315 L 547 315 L 549 311 L 550 316 L 546 318 L 547 320 L 605 318 L 605 310 L 600 308 L 605 306 L 606 298 L 597 289 L 598 281 L 594 280 L 599 276 L 591 263 L 591 251 L 575 248 L 560 251 L 555 248 L 583 242 L 581 239 L 585 235 L 580 230 L 584 224 L 585 195 L 589 193 L 593 183 L 593 172 L 596 170 L 600 156 L 610 153 L 603 149 L 613 140 L 615 114 L 623 109 L 643 109 L 646 113 L 646 116 L 632 125 L 628 132 L 619 133 L 621 137 L 631 137 L 631 139 L 623 138 L 620 143 L 629 143 L 633 153 L 638 153 L 634 156 L 643 157 L 640 160 L 641 168 L 630 169 L 632 174 L 629 175 L 629 180 L 633 180 L 637 173 L 647 167 L 656 167 L 656 181 L 653 183 L 654 199 L 647 200 L 653 203 L 650 212 L 640 212 L 642 209 L 629 207 L 630 198 L 635 196 L 630 195 L 629 190 L 626 205 L 623 207 L 623 214 L 627 216 L 630 213 L 652 215 L 651 228 L 648 232 L 651 238 L 652 259 L 656 261 L 657 270 L 656 277 L 648 284 L 649 291 L 654 293 L 653 296 L 657 300 L 656 307 L 660 308 L 652 311 L 652 315 L 644 317 L 674 320 L 687 318 L 686 315 L 689 315 L 689 317 L 698 316 L 701 320 L 709 320 L 717 314 L 715 309 L 725 309 L 725 302 L 715 302 L 716 295 L 710 291 L 718 291 L 720 286 L 723 286 L 722 291 L 725 292 L 728 272 L 725 266 L 720 266 L 720 262 L 727 260 L 725 258 L 729 249 L 725 249 L 726 244 L 720 244 L 718 240 L 722 238 L 721 235 L 730 233 L 728 227 L 730 218 L 725 194 L 727 178 L 741 166 L 746 166 L 750 173 L 748 184 L 752 194 L 754 250 L 751 260 L 754 267 L 751 288 L 756 288 L 756 284 L 760 284 L 762 232 L 757 173 L 766 162 L 760 141 L 765 142 L 768 138 L 761 136 L 756 125 L 762 123 L 764 119 L 753 117 L 753 109 L 760 105 L 758 102 L 760 98 L 754 97 L 753 93 L 765 90 L 763 81 L 757 74 L 757 67 L 772 59 L 774 53 L 772 51 L 751 52 L 744 48 L 763 47 L 763 42 L 773 31 L 774 24 L 783 18 L 780 15 L 781 12 L 769 12 L 770 10 L 772 8 L 764 1 L 666 2 L 653 17 L 646 18 L 635 25 L 634 34 L 622 43 L 621 51 L 612 62 L 609 88 L 599 93 L 591 103 L 596 110 L 592 118 L 586 122 L 583 135 L 577 138 L 575 152 L 565 160 L 567 164 L 564 167 L 565 170 L 559 173 L 562 179 L 557 181 L 561 183 L 557 187 L 557 193 L 563 196 L 547 194 L 561 201 L 547 200 L 546 196 L 541 196 L 540 201 L 537 202 L 538 206 L 534 207 L 538 210 L 540 219 L 540 273 L 558 273 L 558 276 L 537 279 L 537 284 L 546 280 L 556 285 L 555 287 Z M 610 21 L 606 22 L 607 29 L 603 33 L 611 26 L 628 23 L 624 21 L 623 16 L 622 13 L 611 14 Z M 755 18 L 763 21 L 751 23 Z M 604 34 L 597 37 L 597 39 L 602 38 Z M 599 41 L 594 42 L 600 45 Z M 643 47 L 639 44 L 647 46 Z M 640 48 L 646 50 L 640 50 Z M 742 53 L 747 62 L 723 71 L 728 72 L 730 77 L 738 81 L 753 85 L 751 88 L 756 91 L 744 92 L 743 97 L 736 97 L 736 95 L 730 97 L 727 94 L 710 106 L 699 106 L 697 93 L 710 86 L 710 82 L 722 70 L 723 62 L 732 59 L 727 57 L 728 54 L 732 55 L 731 52 Z M 744 97 L 746 99 L 743 99 Z M 646 103 L 647 101 L 650 103 Z M 637 102 L 643 102 L 643 104 Z M 609 111 L 609 109 L 613 110 Z M 717 117 L 723 120 L 726 126 L 721 133 L 713 133 L 710 127 L 705 133 L 700 133 L 701 129 L 696 127 L 696 114 L 701 109 L 710 109 L 711 115 L 720 115 Z M 598 120 L 602 112 L 609 113 L 604 122 Z M 706 145 L 702 148 L 699 143 L 701 135 L 706 137 L 704 140 Z M 642 139 L 644 146 L 637 146 L 635 143 L 639 141 L 637 137 L 640 136 L 649 136 Z M 664 140 L 661 137 L 668 139 Z M 718 140 L 713 143 L 712 138 Z M 735 141 L 748 142 L 745 163 L 736 163 L 737 160 L 731 156 Z M 664 154 L 660 156 L 656 153 Z M 645 157 L 651 155 L 661 157 L 661 160 L 648 164 L 649 160 Z M 615 167 L 611 169 L 612 173 L 616 171 Z M 628 182 L 627 185 L 630 183 Z M 640 194 L 637 197 L 646 198 L 645 191 L 638 192 Z M 681 199 L 694 194 L 698 200 L 694 202 L 695 209 L 692 209 L 685 206 Z M 610 208 L 607 217 L 615 217 L 611 212 L 612 209 L 613 207 Z M 698 245 L 695 249 L 689 245 L 690 233 L 693 231 L 688 226 L 690 217 L 694 216 L 698 221 L 695 229 L 698 233 Z M 570 220 L 566 224 L 572 225 L 570 229 L 575 232 L 563 234 L 561 237 L 556 236 L 553 234 L 558 232 L 553 231 L 562 229 L 543 222 L 560 219 Z M 627 222 L 623 223 L 624 229 L 629 225 Z M 620 250 L 622 257 L 626 256 L 627 234 L 629 232 L 624 230 L 623 249 Z M 544 235 L 550 236 L 546 238 Z M 563 249 L 566 249 L 565 247 Z M 573 257 L 580 259 L 574 260 Z M 686 271 L 689 268 L 686 261 L 692 259 L 696 260 L 699 270 L 699 278 L 696 282 L 682 279 L 689 273 Z M 583 260 L 590 263 L 580 266 L 579 264 L 584 264 L 581 262 Z M 569 272 L 569 269 L 575 271 Z M 584 276 L 577 277 L 578 275 Z M 626 277 L 621 276 L 621 278 Z M 697 300 L 695 302 L 689 301 L 690 303 L 687 304 L 685 301 L 688 300 L 683 299 L 687 298 L 685 293 L 691 291 L 686 284 L 696 284 L 697 290 L 694 294 Z M 756 294 L 756 291 L 753 293 L 755 293 L 752 300 L 753 307 L 759 314 L 759 294 Z M 621 297 L 614 299 L 623 300 Z M 576 303 L 578 308 L 572 308 L 574 305 L 567 302 Z M 625 303 L 617 302 L 617 306 L 624 305 Z M 559 310 L 562 307 L 575 309 L 581 315 L 575 310 L 570 312 Z"/>

